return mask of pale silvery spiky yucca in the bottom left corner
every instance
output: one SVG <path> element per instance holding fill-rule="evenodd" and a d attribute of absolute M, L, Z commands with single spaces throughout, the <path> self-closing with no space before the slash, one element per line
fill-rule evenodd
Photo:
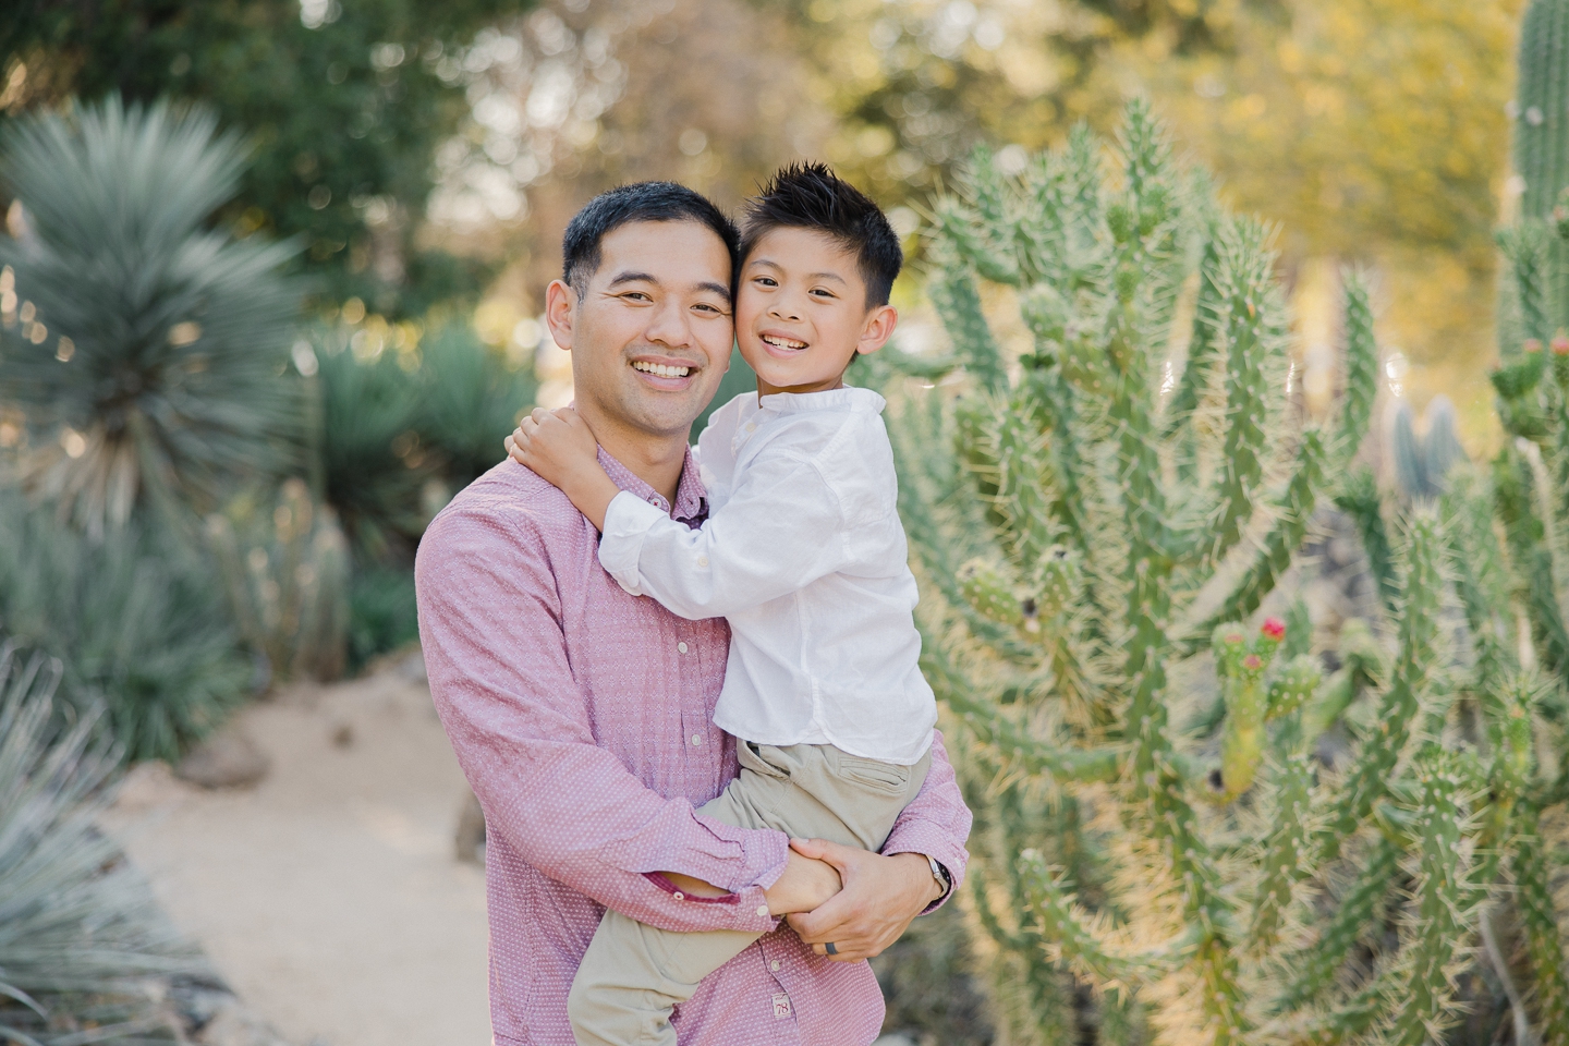
<path fill-rule="evenodd" d="M 180 1041 L 154 979 L 212 979 L 97 828 L 118 753 L 96 717 L 61 728 L 58 660 L 0 641 L 0 1040 Z"/>

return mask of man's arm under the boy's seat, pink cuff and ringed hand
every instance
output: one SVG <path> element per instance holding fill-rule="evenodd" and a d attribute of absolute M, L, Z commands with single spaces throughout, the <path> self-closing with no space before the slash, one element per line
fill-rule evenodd
<path fill-rule="evenodd" d="M 816 839 L 795 844 L 803 855 L 835 866 L 844 891 L 814 911 L 791 916 L 791 927 L 817 955 L 827 955 L 830 941 L 838 961 L 880 955 L 916 916 L 946 903 L 963 884 L 971 820 L 937 732 L 926 783 L 899 814 L 880 855 Z M 927 855 L 952 878 L 946 892 L 932 878 Z"/>

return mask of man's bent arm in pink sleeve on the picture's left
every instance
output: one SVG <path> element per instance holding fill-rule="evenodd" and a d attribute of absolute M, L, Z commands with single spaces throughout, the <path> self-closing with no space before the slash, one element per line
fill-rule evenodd
<path fill-rule="evenodd" d="M 784 837 L 698 819 L 595 743 L 555 580 L 530 539 L 499 510 L 452 511 L 416 565 L 431 696 L 486 828 L 535 869 L 650 925 L 772 928 L 764 891 L 786 867 Z M 728 903 L 676 900 L 653 872 L 712 883 Z"/>

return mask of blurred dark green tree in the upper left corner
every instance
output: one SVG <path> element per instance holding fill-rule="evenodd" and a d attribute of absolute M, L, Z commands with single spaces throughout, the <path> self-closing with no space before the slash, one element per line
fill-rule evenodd
<path fill-rule="evenodd" d="M 388 314 L 474 293 L 482 270 L 414 234 L 433 154 L 468 118 L 453 56 L 530 0 L 13 0 L 0 113 L 75 96 L 201 99 L 253 136 L 224 218 L 298 235 L 328 300 Z"/>

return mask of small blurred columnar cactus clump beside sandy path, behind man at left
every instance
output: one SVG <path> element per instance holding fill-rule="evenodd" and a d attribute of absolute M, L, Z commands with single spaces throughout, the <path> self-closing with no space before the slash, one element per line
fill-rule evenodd
<path fill-rule="evenodd" d="M 336 679 L 348 635 L 348 543 L 333 510 L 300 480 L 284 481 L 271 511 L 207 518 L 240 637 L 278 679 Z M 234 516 L 234 519 L 231 519 Z"/>

